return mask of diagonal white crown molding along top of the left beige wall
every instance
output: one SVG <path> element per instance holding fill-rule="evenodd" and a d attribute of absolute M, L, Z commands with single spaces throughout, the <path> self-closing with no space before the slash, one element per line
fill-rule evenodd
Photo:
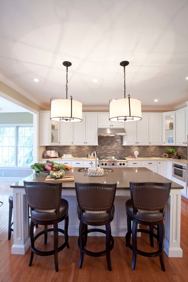
<path fill-rule="evenodd" d="M 34 102 L 36 105 L 42 107 L 43 109 L 46 109 L 46 107 L 43 105 L 43 103 L 40 103 L 37 99 L 35 99 L 32 95 L 30 95 L 28 92 L 24 91 L 21 87 L 19 87 L 17 84 L 12 82 L 10 79 L 5 77 L 2 73 L 0 73 L 0 80 L 5 83 L 6 85 L 13 88 L 15 91 L 19 92 L 21 95 L 25 96 L 32 102 Z"/>

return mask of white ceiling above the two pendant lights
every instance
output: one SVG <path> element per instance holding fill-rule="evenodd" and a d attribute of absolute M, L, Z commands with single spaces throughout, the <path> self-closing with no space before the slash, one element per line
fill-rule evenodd
<path fill-rule="evenodd" d="M 70 61 L 68 95 L 100 107 L 124 97 L 128 60 L 126 94 L 174 107 L 188 101 L 187 15 L 187 0 L 1 0 L 0 73 L 49 109 Z"/>

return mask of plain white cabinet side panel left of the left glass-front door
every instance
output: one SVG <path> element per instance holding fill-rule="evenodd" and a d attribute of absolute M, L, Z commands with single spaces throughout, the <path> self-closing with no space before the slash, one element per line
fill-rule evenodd
<path fill-rule="evenodd" d="M 39 145 L 50 145 L 50 111 L 40 112 Z"/>

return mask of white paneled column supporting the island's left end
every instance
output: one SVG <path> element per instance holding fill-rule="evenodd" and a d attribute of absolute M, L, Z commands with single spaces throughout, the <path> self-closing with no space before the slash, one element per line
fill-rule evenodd
<path fill-rule="evenodd" d="M 13 188 L 14 244 L 12 254 L 24 255 L 30 246 L 28 231 L 28 202 L 25 189 Z"/>

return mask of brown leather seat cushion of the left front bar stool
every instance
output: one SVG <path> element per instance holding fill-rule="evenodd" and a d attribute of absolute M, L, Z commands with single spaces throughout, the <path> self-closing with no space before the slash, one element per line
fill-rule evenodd
<path fill-rule="evenodd" d="M 68 201 L 65 199 L 61 199 L 59 217 L 56 216 L 56 210 L 38 210 L 38 209 L 34 209 L 31 211 L 31 217 L 33 219 L 41 220 L 41 221 L 56 220 L 67 214 L 68 208 L 69 208 Z"/>

